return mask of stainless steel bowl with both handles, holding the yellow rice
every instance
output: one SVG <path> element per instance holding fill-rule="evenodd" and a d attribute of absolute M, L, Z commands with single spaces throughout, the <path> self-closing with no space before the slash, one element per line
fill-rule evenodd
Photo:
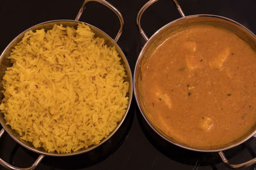
<path fill-rule="evenodd" d="M 54 157 L 65 157 L 65 156 L 72 156 L 72 155 L 78 155 L 81 153 L 89 152 L 90 150 L 97 148 L 97 146 L 102 145 L 102 143 L 107 141 L 109 138 L 111 138 L 111 136 L 113 136 L 113 134 L 115 134 L 115 132 L 119 129 L 120 125 L 124 122 L 124 119 L 129 111 L 129 108 L 131 105 L 131 100 L 132 100 L 132 73 L 131 73 L 131 69 L 129 67 L 129 63 L 128 63 L 124 53 L 122 52 L 120 46 L 118 46 L 118 44 L 117 44 L 117 41 L 122 34 L 124 19 L 123 19 L 121 13 L 113 5 L 109 4 L 107 1 L 104 1 L 104 0 L 85 0 L 84 3 L 82 4 L 75 20 L 51 20 L 48 22 L 34 25 L 33 27 L 30 27 L 26 31 L 20 33 L 19 36 L 17 36 L 15 39 L 13 39 L 12 42 L 4 49 L 3 53 L 0 55 L 0 79 L 3 79 L 3 75 L 4 75 L 4 71 L 6 70 L 6 67 L 11 66 L 10 60 L 8 60 L 7 57 L 10 55 L 12 48 L 15 45 L 17 45 L 17 43 L 19 43 L 19 41 L 23 38 L 25 32 L 27 32 L 29 30 L 35 31 L 37 29 L 43 29 L 43 28 L 45 29 L 45 31 L 47 31 L 49 29 L 52 29 L 52 26 L 54 24 L 59 24 L 59 25 L 62 24 L 63 27 L 67 27 L 67 26 L 76 27 L 79 23 L 81 23 L 79 21 L 79 18 L 81 17 L 81 15 L 83 13 L 84 6 L 91 1 L 95 1 L 97 3 L 105 5 L 110 10 L 114 11 L 120 20 L 120 29 L 119 29 L 118 33 L 116 34 L 115 39 L 112 39 L 110 36 L 108 36 L 108 34 L 101 31 L 97 27 L 94 27 L 93 25 L 90 25 L 90 24 L 87 24 L 87 25 L 90 26 L 92 31 L 95 33 L 96 37 L 105 39 L 106 45 L 115 46 L 116 51 L 118 52 L 119 56 L 121 57 L 121 63 L 123 64 L 123 66 L 125 68 L 125 73 L 127 74 L 125 81 L 129 82 L 129 92 L 127 92 L 127 97 L 129 97 L 129 101 L 127 104 L 127 108 L 126 108 L 124 117 L 122 118 L 122 120 L 120 120 L 120 122 L 118 122 L 118 125 L 116 125 L 116 128 L 114 129 L 114 131 L 111 132 L 111 134 L 109 134 L 108 138 L 102 139 L 102 141 L 100 141 L 99 145 L 93 145 L 93 146 L 90 146 L 89 148 L 81 149 L 74 153 L 56 153 L 56 152 L 49 153 L 49 152 L 45 152 L 45 150 L 43 150 L 42 148 L 35 148 L 31 143 L 24 141 L 23 139 L 20 139 L 19 134 L 17 134 L 17 132 L 13 131 L 13 129 L 9 125 L 6 125 L 6 121 L 4 120 L 3 113 L 0 113 L 0 123 L 3 127 L 3 129 L 1 129 L 1 131 L 0 131 L 0 137 L 3 135 L 4 131 L 6 131 L 15 141 L 17 141 L 17 143 L 24 146 L 25 148 L 28 148 L 29 150 L 31 150 L 33 152 L 40 154 L 38 159 L 36 159 L 35 163 L 26 169 L 34 169 L 40 163 L 40 161 L 44 158 L 45 155 L 54 156 Z M 0 89 L 3 90 L 3 85 L 0 86 Z M 3 97 L 4 97 L 3 94 L 0 94 L 0 97 L 1 97 L 1 99 L 3 99 Z M 2 160 L 2 159 L 0 159 L 0 164 L 8 169 L 21 169 L 19 167 L 14 167 L 14 166 L 8 164 L 7 162 L 4 162 L 4 160 Z"/>

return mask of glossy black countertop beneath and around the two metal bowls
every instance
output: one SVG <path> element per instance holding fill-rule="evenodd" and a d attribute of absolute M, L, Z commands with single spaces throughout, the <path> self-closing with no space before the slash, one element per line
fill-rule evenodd
<path fill-rule="evenodd" d="M 109 0 L 124 17 L 124 30 L 118 45 L 122 48 L 132 73 L 141 48 L 145 44 L 136 25 L 136 15 L 147 1 Z M 20 32 L 48 20 L 73 20 L 83 0 L 76 1 L 0 1 L 0 52 Z M 231 18 L 256 34 L 255 0 L 179 0 L 185 15 L 212 14 Z M 159 0 L 141 18 L 141 25 L 150 37 L 163 25 L 179 18 L 172 1 Z M 86 6 L 81 21 L 92 24 L 112 38 L 119 29 L 115 14 L 98 3 Z M 256 157 L 256 139 L 225 151 L 233 164 Z M 8 134 L 0 139 L 0 158 L 18 167 L 28 167 L 37 153 L 17 144 Z M 0 169 L 4 169 L 0 166 Z M 73 157 L 45 157 L 36 169 L 229 169 L 218 153 L 201 153 L 184 150 L 159 138 L 141 117 L 135 99 L 124 124 L 104 145 L 92 152 Z M 256 166 L 244 169 L 256 169 Z"/>

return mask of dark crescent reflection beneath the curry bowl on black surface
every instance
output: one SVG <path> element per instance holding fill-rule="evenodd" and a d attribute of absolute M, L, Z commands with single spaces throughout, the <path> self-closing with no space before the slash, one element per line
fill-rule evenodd
<path fill-rule="evenodd" d="M 170 159 L 173 159 L 182 164 L 188 164 L 191 166 L 211 166 L 212 169 L 216 169 L 216 164 L 220 164 L 222 162 L 220 156 L 216 152 L 195 152 L 169 143 L 151 129 L 151 127 L 142 117 L 138 107 L 136 108 L 136 113 L 138 113 L 137 116 L 141 129 L 143 129 L 147 139 L 150 141 L 150 143 L 152 143 L 152 145 L 154 145 L 157 150 L 159 150 L 159 152 L 163 153 L 166 157 L 169 157 Z M 255 144 L 256 140 L 251 138 L 245 143 L 225 151 L 227 159 L 236 157 L 239 155 L 239 153 L 246 149 L 250 151 L 252 157 L 255 157 L 256 145 L 251 145 L 253 141 Z M 240 163 L 241 162 L 234 162 L 234 164 Z"/>

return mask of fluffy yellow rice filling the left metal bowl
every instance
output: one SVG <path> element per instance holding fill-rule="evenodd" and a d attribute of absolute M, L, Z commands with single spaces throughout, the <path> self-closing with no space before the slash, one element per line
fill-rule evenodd
<path fill-rule="evenodd" d="M 36 148 L 70 153 L 97 145 L 124 116 L 124 66 L 88 25 L 28 31 L 8 59 L 0 109 Z"/>

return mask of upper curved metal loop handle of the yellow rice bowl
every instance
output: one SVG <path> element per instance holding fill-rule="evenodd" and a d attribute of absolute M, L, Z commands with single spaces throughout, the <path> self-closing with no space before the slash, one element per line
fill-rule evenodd
<path fill-rule="evenodd" d="M 81 17 L 83 11 L 84 11 L 84 6 L 89 3 L 89 2 L 97 2 L 97 3 L 100 3 L 100 4 L 103 4 L 104 6 L 108 7 L 110 10 L 112 10 L 116 15 L 117 17 L 119 18 L 119 21 L 120 21 L 120 28 L 119 28 L 119 31 L 117 32 L 116 34 L 116 37 L 115 37 L 115 41 L 117 42 L 118 39 L 120 38 L 121 34 L 122 34 L 122 31 L 123 31 L 123 25 L 124 25 L 124 18 L 122 16 L 122 14 L 120 13 L 120 11 L 118 11 L 115 6 L 113 6 L 112 4 L 108 3 L 107 1 L 105 0 L 84 0 L 79 12 L 77 13 L 77 16 L 76 16 L 76 19 L 75 20 L 79 20 L 79 18 Z"/>

